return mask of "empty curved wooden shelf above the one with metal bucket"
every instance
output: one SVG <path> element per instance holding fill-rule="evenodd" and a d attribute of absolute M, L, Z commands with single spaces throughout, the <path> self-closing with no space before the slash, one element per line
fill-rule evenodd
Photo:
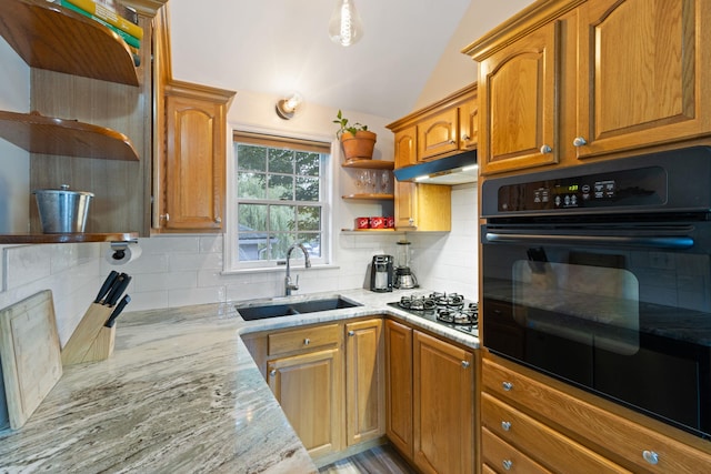
<path fill-rule="evenodd" d="M 139 160 L 131 140 L 123 133 L 37 112 L 0 111 L 0 137 L 31 153 Z"/>

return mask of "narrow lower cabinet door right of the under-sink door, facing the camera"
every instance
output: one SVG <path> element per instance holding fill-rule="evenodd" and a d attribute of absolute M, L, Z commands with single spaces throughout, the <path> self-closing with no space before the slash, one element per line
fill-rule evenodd
<path fill-rule="evenodd" d="M 348 445 L 384 433 L 385 379 L 382 320 L 346 324 L 346 433 Z"/>

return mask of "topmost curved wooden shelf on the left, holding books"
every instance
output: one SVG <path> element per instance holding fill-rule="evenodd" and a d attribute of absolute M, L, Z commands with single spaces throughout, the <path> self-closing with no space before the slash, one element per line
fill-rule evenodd
<path fill-rule="evenodd" d="M 0 0 L 0 36 L 32 68 L 139 84 L 121 37 L 47 0 Z"/>

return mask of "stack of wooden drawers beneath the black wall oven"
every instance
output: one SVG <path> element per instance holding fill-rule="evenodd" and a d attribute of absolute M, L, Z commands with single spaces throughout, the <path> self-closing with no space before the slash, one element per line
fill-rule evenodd
<path fill-rule="evenodd" d="M 489 353 L 481 383 L 482 452 L 495 472 L 518 455 L 561 473 L 711 472 L 708 442 Z"/>

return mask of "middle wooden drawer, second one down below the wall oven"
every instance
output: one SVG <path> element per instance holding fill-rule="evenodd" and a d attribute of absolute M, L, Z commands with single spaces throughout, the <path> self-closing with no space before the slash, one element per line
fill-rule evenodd
<path fill-rule="evenodd" d="M 488 393 L 481 394 L 481 423 L 555 472 L 629 473 Z"/>

